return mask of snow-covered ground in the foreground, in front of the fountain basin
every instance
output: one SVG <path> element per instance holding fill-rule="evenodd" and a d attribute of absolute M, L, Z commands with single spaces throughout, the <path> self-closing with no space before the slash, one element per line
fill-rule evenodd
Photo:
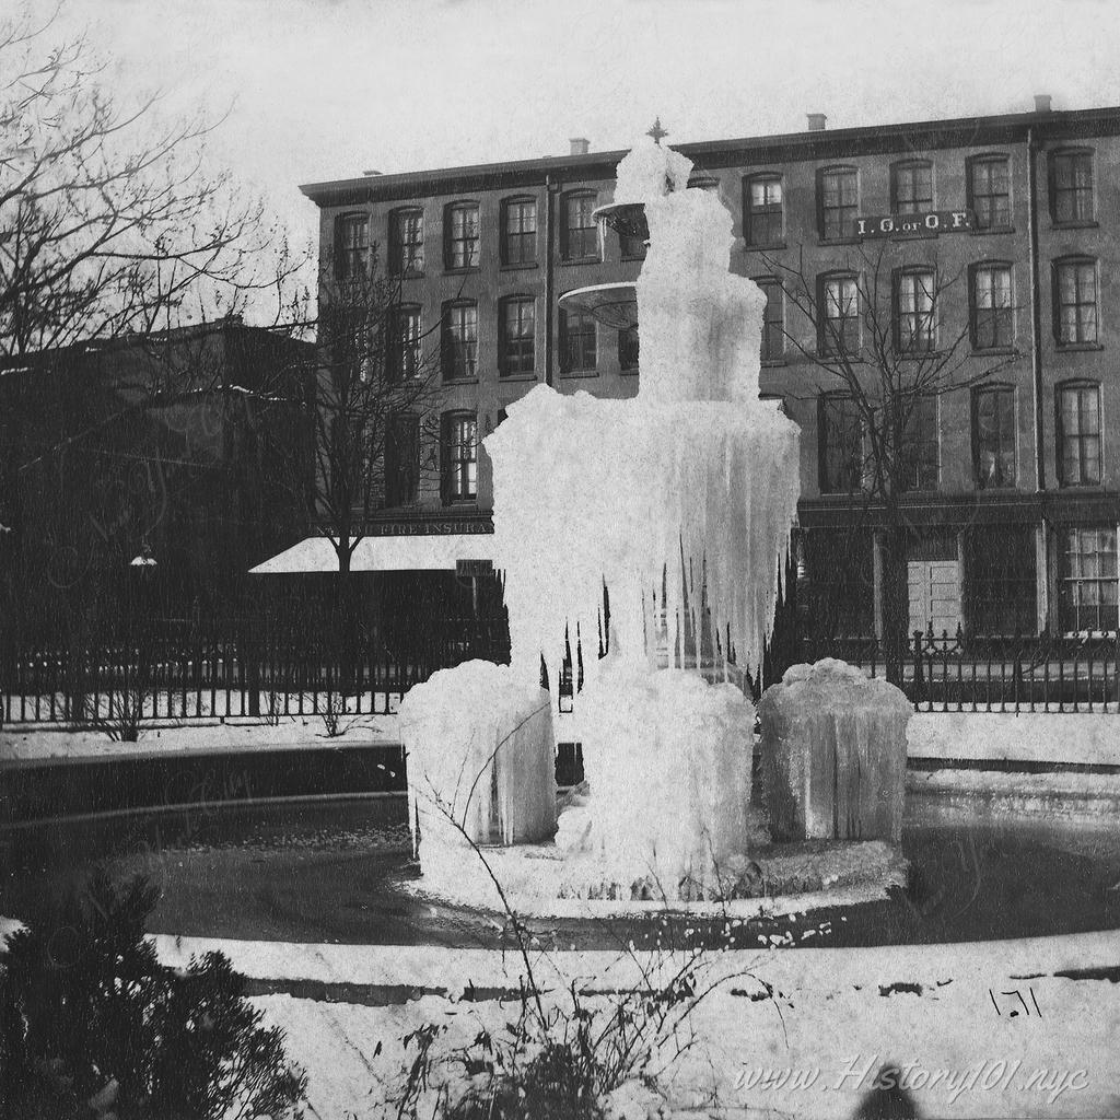
<path fill-rule="evenodd" d="M 255 962 L 258 973 L 270 971 L 262 968 L 267 955 L 244 944 L 225 948 L 239 967 Z M 185 942 L 181 951 L 187 949 Z M 852 1116 L 879 1070 L 896 1063 L 920 1116 L 1116 1116 L 1120 984 L 1054 973 L 1114 970 L 1118 954 L 1120 935 L 1113 933 L 710 954 L 702 976 L 718 987 L 693 1011 L 699 1042 L 669 1070 L 663 1091 L 675 1109 L 699 1108 L 701 1114 L 718 1103 L 732 1116 L 834 1118 Z M 292 946 L 290 955 L 272 960 L 297 974 L 326 978 L 342 969 L 351 982 L 429 990 L 380 1007 L 254 998 L 271 1023 L 287 1029 L 289 1053 L 308 1067 L 312 1114 L 320 1117 L 347 1110 L 381 1116 L 384 1084 L 401 1067 L 403 1036 L 435 1023 L 448 1027 L 445 1042 L 452 1045 L 482 1026 L 501 1029 L 515 1016 L 514 1002 L 494 992 L 459 997 L 469 984 L 515 990 L 524 971 L 514 956 L 435 948 Z M 610 953 L 536 962 L 542 987 L 559 989 L 580 977 L 582 987 L 600 992 L 640 983 L 643 968 L 669 974 L 679 964 Z M 589 999 L 610 1004 L 609 996 Z"/>

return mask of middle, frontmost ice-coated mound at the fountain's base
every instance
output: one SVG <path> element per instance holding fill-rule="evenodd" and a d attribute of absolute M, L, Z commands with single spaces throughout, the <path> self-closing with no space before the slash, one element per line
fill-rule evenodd
<path fill-rule="evenodd" d="M 754 718 L 732 684 L 609 657 L 578 704 L 592 796 L 561 815 L 558 847 L 587 878 L 657 896 L 715 883 L 748 834 Z"/>

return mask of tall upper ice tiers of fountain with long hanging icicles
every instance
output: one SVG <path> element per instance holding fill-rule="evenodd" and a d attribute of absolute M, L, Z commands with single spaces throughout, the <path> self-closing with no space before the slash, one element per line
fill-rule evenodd
<path fill-rule="evenodd" d="M 796 511 L 797 429 L 758 400 L 765 301 L 729 272 L 726 207 L 680 189 L 689 170 L 652 143 L 618 166 L 616 197 L 643 200 L 650 224 L 637 396 L 541 385 L 485 440 L 513 664 L 526 675 L 542 654 L 556 673 L 566 633 L 594 638 L 604 584 L 628 656 L 653 655 L 662 616 L 671 665 L 684 664 L 684 633 L 707 632 L 721 654 L 729 633 L 740 666 L 762 656 Z"/>

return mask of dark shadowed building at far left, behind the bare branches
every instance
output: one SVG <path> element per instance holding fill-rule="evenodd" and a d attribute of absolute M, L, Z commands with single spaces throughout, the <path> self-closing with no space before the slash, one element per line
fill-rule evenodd
<path fill-rule="evenodd" d="M 50 596 L 132 566 L 185 594 L 298 540 L 314 346 L 230 318 L 0 366 L 0 550 Z"/>

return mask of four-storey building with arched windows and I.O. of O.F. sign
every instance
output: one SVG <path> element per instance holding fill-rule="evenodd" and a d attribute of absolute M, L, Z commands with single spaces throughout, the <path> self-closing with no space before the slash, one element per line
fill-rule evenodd
<path fill-rule="evenodd" d="M 883 625 L 868 420 L 830 372 L 841 345 L 874 381 L 881 328 L 896 354 L 953 355 L 951 384 L 907 422 L 911 628 L 1117 629 L 1120 109 L 1058 112 L 1038 97 L 1029 113 L 809 125 L 674 147 L 732 213 L 732 271 L 767 293 L 760 389 L 802 430 L 800 572 L 814 618 L 834 635 Z M 636 332 L 559 304 L 635 279 L 644 255 L 594 217 L 625 152 L 586 149 L 304 187 L 328 270 L 400 278 L 395 345 L 438 329 L 439 485 L 396 468 L 404 483 L 386 486 L 372 533 L 485 531 L 480 441 L 533 385 L 636 392 Z"/>

